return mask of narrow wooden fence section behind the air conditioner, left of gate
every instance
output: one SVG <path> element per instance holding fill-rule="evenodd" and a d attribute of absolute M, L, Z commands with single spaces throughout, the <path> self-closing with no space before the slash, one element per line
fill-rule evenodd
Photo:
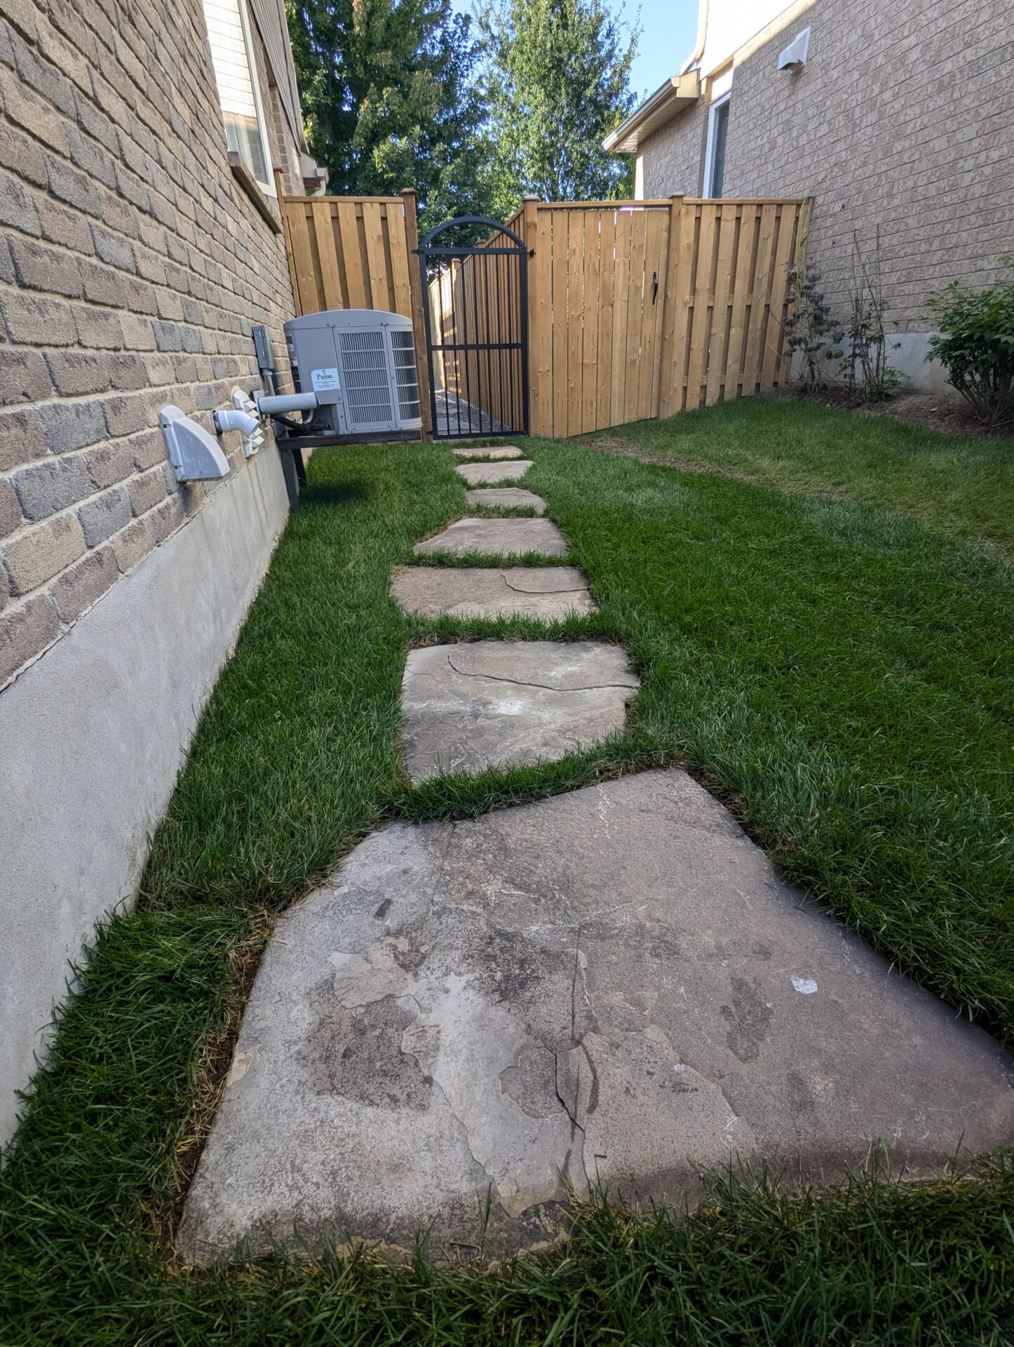
<path fill-rule="evenodd" d="M 400 197 L 285 197 L 279 205 L 285 230 L 296 314 L 325 308 L 378 308 L 411 318 L 423 408 L 430 420 L 430 383 L 419 277 L 416 194 Z"/>

